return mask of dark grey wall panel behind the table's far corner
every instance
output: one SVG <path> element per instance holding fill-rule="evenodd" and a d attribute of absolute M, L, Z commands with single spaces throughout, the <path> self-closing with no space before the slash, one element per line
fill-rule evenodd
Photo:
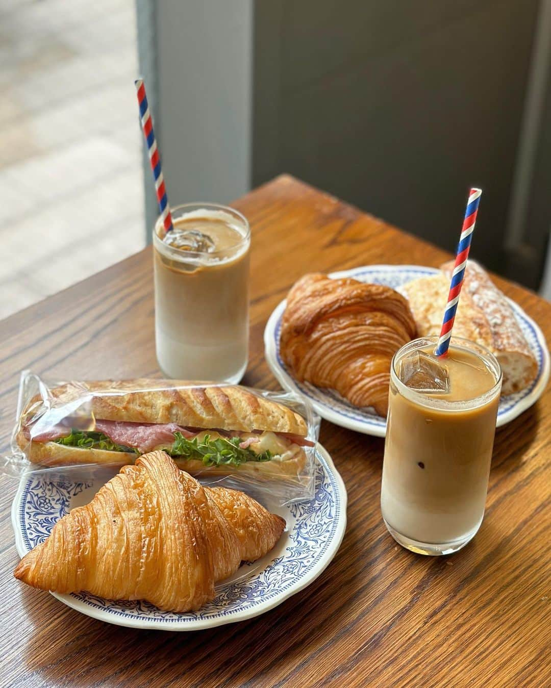
<path fill-rule="evenodd" d="M 482 186 L 473 254 L 499 268 L 537 8 L 257 2 L 253 184 L 288 171 L 450 250 Z"/>

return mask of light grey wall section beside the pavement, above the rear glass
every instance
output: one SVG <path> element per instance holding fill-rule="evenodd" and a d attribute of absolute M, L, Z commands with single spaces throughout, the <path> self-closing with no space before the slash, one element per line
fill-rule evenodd
<path fill-rule="evenodd" d="M 170 203 L 229 202 L 250 189 L 252 0 L 153 6 L 155 133 Z"/>

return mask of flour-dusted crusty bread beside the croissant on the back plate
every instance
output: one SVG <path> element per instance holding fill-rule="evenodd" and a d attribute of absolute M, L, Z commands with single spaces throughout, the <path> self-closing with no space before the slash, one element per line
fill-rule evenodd
<path fill-rule="evenodd" d="M 442 272 L 415 279 L 400 291 L 409 300 L 420 336 L 440 334 L 448 297 L 453 261 Z M 468 261 L 455 322 L 455 336 L 485 346 L 503 371 L 502 394 L 514 394 L 537 376 L 537 361 L 515 319 L 506 297 L 475 261 Z"/>

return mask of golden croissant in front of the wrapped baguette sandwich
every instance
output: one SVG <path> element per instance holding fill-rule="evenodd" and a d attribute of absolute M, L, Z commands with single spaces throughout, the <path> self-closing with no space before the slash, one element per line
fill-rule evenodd
<path fill-rule="evenodd" d="M 215 583 L 269 552 L 285 521 L 237 490 L 202 487 L 163 451 L 123 466 L 28 552 L 17 579 L 42 590 L 197 610 Z"/>

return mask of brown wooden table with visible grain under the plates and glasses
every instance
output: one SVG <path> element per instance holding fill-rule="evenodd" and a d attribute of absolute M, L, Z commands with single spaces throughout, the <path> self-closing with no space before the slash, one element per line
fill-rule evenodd
<path fill-rule="evenodd" d="M 303 272 L 437 266 L 448 258 L 288 176 L 235 207 L 252 225 L 247 385 L 278 387 L 264 362 L 263 328 Z M 93 247 L 83 251 L 94 259 Z M 551 305 L 497 283 L 550 338 Z M 158 376 L 152 288 L 148 248 L 1 323 L 3 449 L 23 368 L 53 378 Z M 349 495 L 341 550 L 309 588 L 267 614 L 195 633 L 108 625 L 15 581 L 10 505 L 16 484 L 2 477 L 0 684 L 550 685 L 550 437 L 546 391 L 497 431 L 477 537 L 453 557 L 431 558 L 398 547 L 382 524 L 383 440 L 324 421 L 321 442 Z"/>

